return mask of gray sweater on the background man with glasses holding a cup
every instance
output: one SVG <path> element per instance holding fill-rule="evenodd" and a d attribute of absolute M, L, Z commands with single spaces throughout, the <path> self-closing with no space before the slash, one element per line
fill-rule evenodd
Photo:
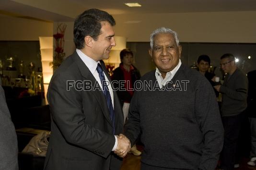
<path fill-rule="evenodd" d="M 222 117 L 235 116 L 246 109 L 247 91 L 247 77 L 239 68 L 233 74 L 227 74 L 220 88 L 222 93 Z"/>

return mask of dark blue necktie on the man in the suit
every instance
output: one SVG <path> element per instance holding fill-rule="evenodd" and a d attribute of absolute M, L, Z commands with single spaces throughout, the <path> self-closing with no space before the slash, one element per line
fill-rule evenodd
<path fill-rule="evenodd" d="M 109 112 L 110 112 L 110 118 L 112 120 L 113 135 L 115 135 L 115 112 L 114 112 L 111 96 L 110 96 L 110 93 L 109 93 L 109 89 L 107 87 L 107 83 L 106 83 L 106 80 L 105 80 L 105 76 L 104 76 L 104 72 L 102 70 L 101 64 L 98 63 L 96 70 L 99 73 L 102 89 L 103 89 L 103 92 L 104 92 L 104 95 L 105 95 L 105 98 L 106 98 L 106 102 L 107 102 L 107 106 L 108 106 L 108 109 L 109 109 Z"/>

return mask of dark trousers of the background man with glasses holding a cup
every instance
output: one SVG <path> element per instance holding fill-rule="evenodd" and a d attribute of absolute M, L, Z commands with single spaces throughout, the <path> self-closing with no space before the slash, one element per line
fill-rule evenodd
<path fill-rule="evenodd" d="M 221 151 L 221 169 L 233 170 L 235 153 L 241 127 L 242 113 L 236 116 L 222 117 L 224 127 L 224 145 Z"/>

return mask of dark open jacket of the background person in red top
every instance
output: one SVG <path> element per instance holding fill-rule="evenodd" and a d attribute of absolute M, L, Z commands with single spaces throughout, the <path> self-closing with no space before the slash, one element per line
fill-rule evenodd
<path fill-rule="evenodd" d="M 122 63 L 121 63 L 122 64 Z M 120 65 L 121 65 L 120 64 Z M 133 66 L 133 70 L 131 70 L 131 81 L 132 81 L 132 88 L 134 88 L 134 83 L 137 81 L 137 80 L 140 80 L 140 71 L 134 66 Z M 121 69 L 121 67 L 117 67 L 114 71 L 113 71 L 113 75 L 112 75 L 112 80 L 114 81 L 119 81 L 119 80 L 125 80 L 124 78 L 124 73 L 123 73 L 123 70 Z M 119 84 L 116 84 L 114 83 L 113 86 L 115 88 L 118 87 Z M 117 90 L 117 96 L 120 100 L 120 103 L 121 103 L 121 106 L 124 105 L 124 101 L 131 101 L 131 95 L 128 91 L 120 91 L 120 90 Z"/>

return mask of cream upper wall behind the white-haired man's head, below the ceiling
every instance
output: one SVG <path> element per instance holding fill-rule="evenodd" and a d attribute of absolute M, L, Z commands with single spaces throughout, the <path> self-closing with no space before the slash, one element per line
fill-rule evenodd
<path fill-rule="evenodd" d="M 256 11 L 115 15 L 116 35 L 149 42 L 158 27 L 176 31 L 181 42 L 256 42 Z M 124 23 L 124 21 L 141 21 Z"/>

